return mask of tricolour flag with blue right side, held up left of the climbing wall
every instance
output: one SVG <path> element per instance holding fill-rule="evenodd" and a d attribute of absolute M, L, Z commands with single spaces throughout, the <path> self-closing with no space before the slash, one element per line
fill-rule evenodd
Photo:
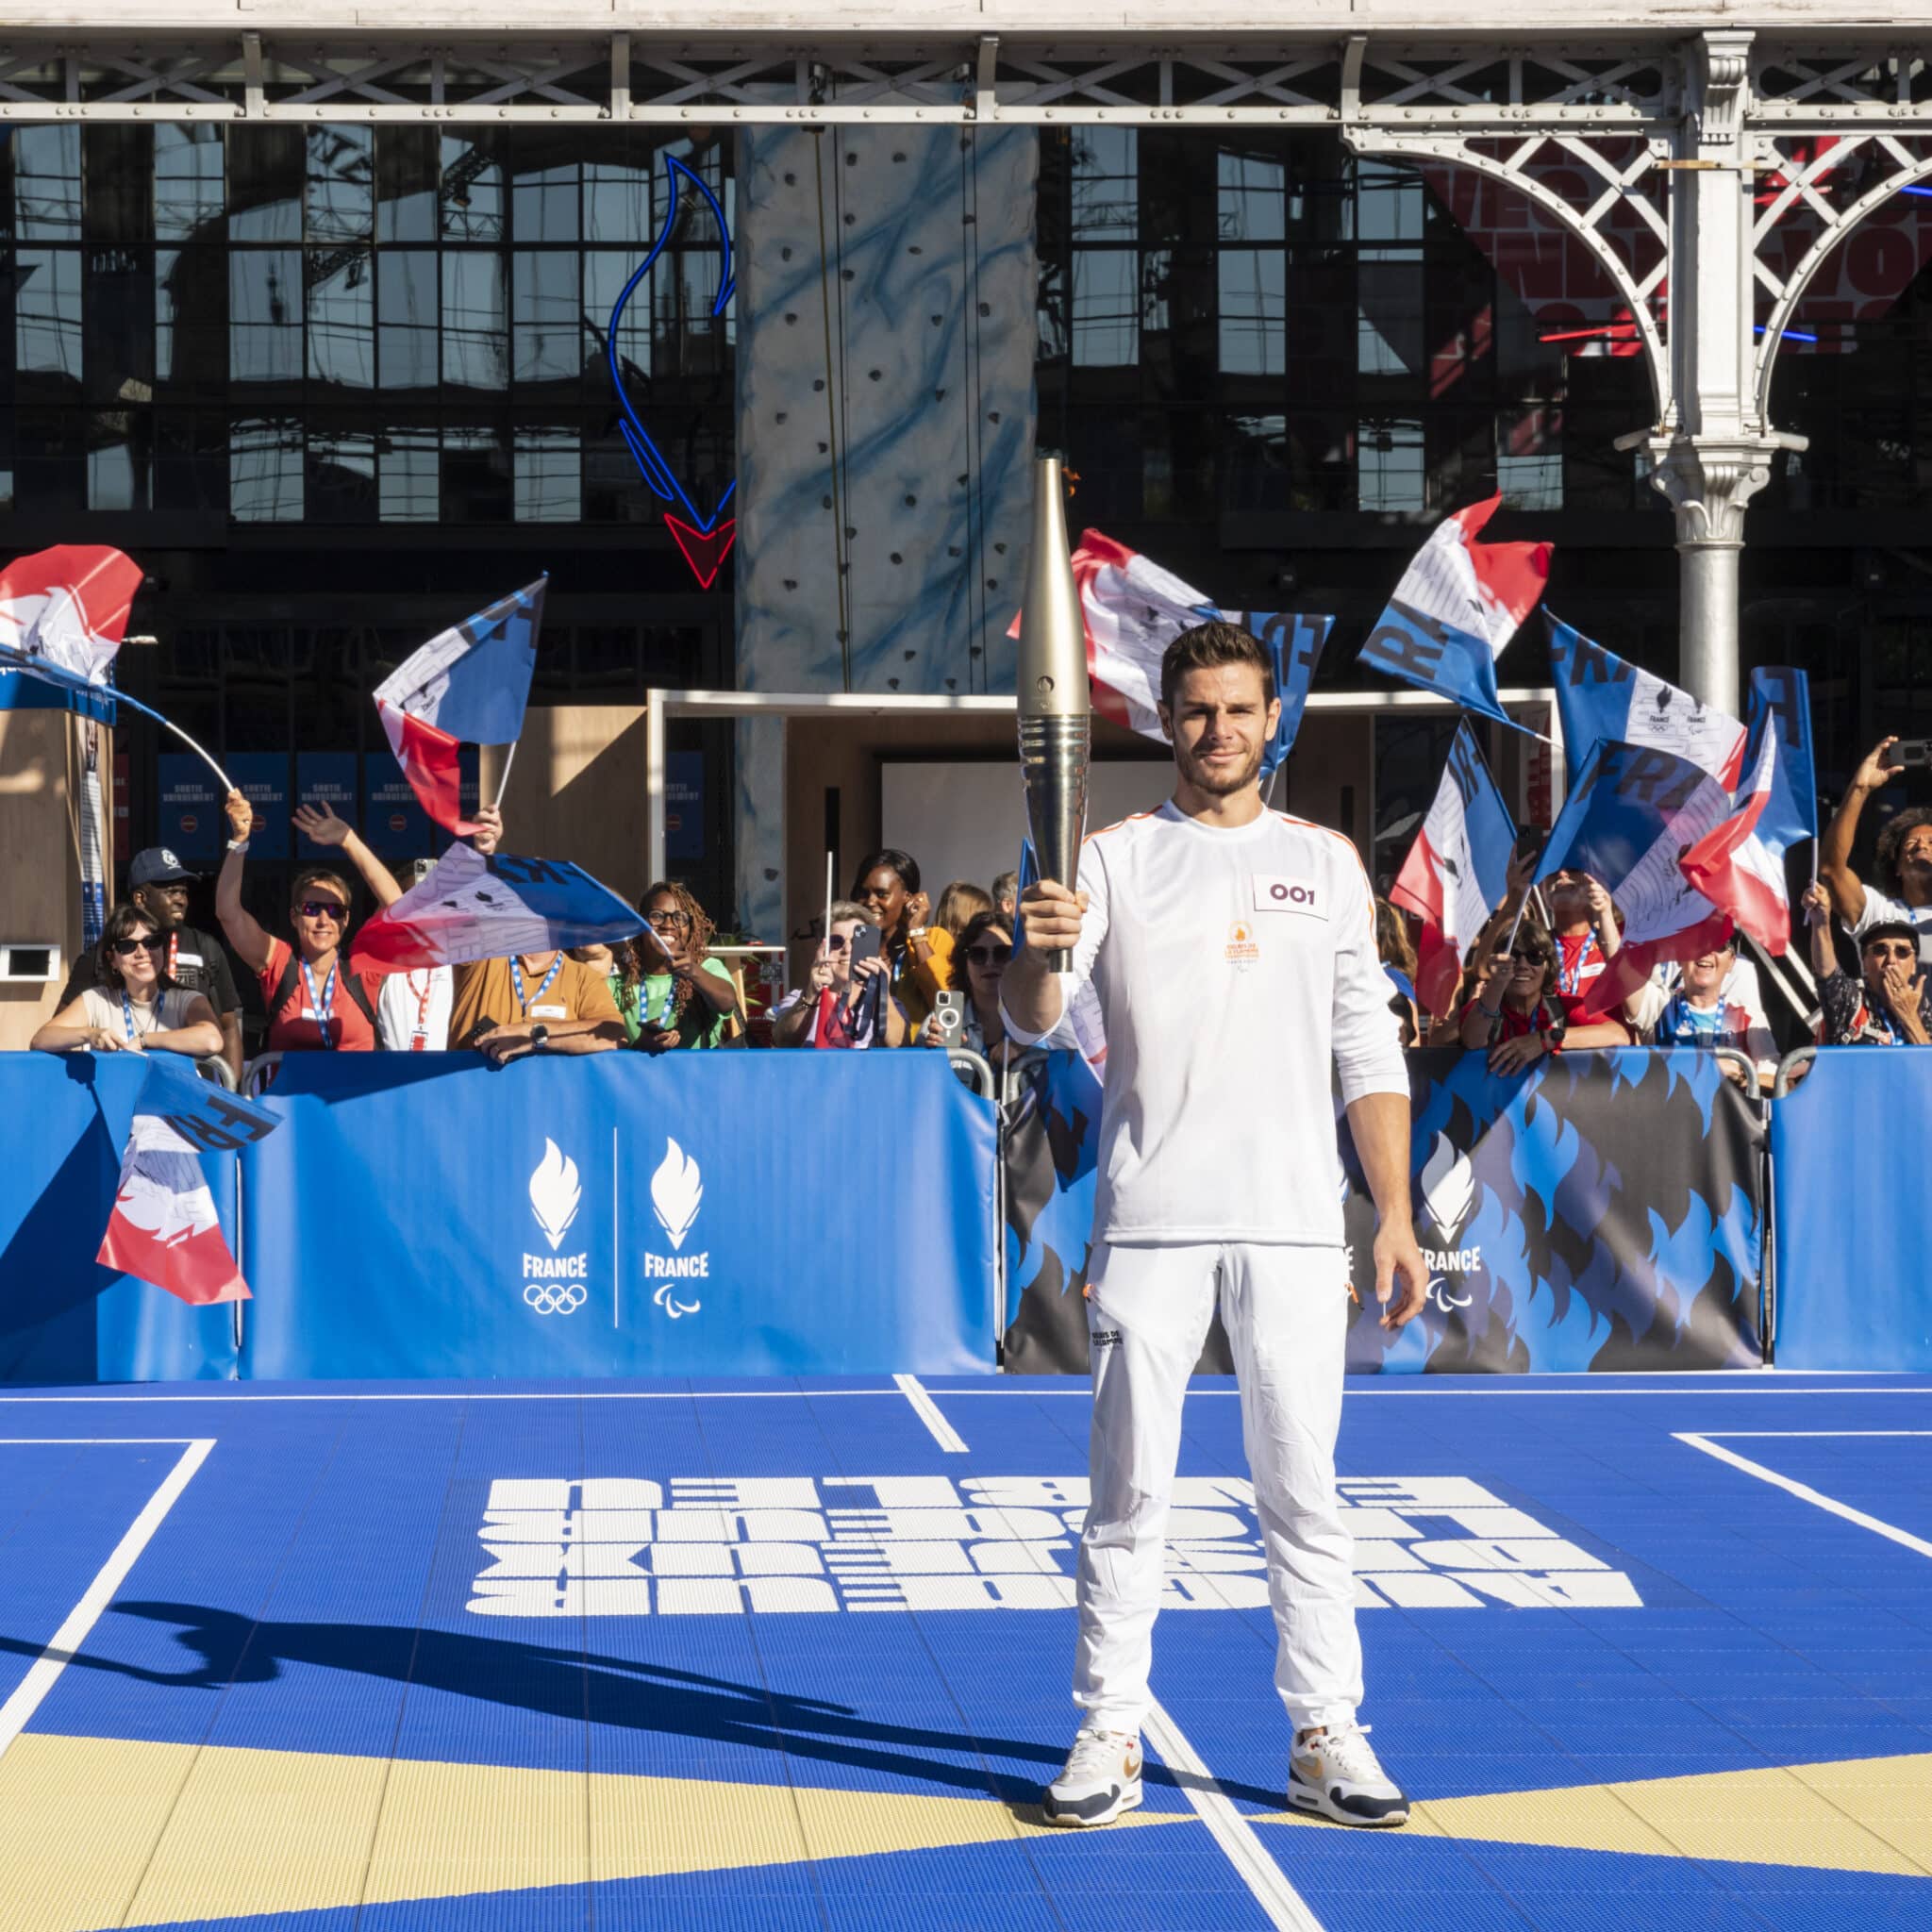
<path fill-rule="evenodd" d="M 524 730 L 549 582 L 537 578 L 466 616 L 375 688 L 377 715 L 410 790 L 458 837 L 477 829 L 462 813 L 458 748 L 510 744 Z"/>

